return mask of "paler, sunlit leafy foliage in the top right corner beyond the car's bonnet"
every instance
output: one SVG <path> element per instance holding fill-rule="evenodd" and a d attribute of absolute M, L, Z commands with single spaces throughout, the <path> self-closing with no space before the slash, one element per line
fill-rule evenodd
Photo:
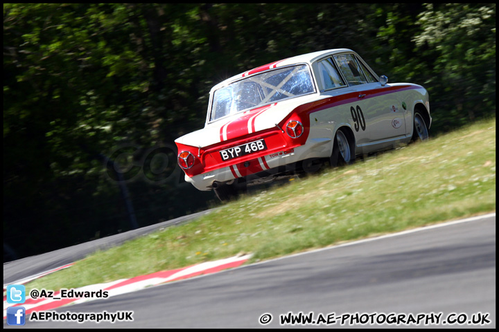
<path fill-rule="evenodd" d="M 427 5 L 414 42 L 430 62 L 426 85 L 450 129 L 495 112 L 496 5 Z"/>

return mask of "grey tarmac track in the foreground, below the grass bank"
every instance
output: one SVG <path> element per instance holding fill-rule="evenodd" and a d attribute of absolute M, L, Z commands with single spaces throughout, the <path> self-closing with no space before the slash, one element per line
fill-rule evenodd
<path fill-rule="evenodd" d="M 66 306 L 58 313 L 133 311 L 133 322 L 30 322 L 29 328 L 261 328 L 280 315 L 473 314 L 496 326 L 496 216 L 421 228 Z M 455 313 L 454 316 L 449 316 Z M 259 318 L 272 315 L 269 324 Z M 487 315 L 486 315 L 487 314 Z M 346 317 L 346 316 L 345 316 Z M 367 316 L 365 316 L 367 317 Z M 322 327 L 381 327 L 353 324 Z M 291 326 L 291 325 L 286 325 Z M 313 327 L 316 325 L 295 326 Z M 415 325 L 385 325 L 411 327 Z M 6 325 L 4 321 L 4 327 Z M 21 326 L 13 326 L 19 328 Z M 421 325 L 419 327 L 424 327 Z M 428 325 L 435 327 L 435 325 Z"/>

